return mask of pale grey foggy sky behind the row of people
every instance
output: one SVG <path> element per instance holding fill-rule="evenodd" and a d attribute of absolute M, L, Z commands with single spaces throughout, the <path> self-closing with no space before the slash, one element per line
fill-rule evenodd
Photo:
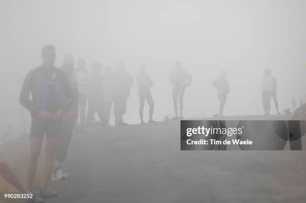
<path fill-rule="evenodd" d="M 179 60 L 192 75 L 184 117 L 218 111 L 211 81 L 227 72 L 224 115 L 262 114 L 260 78 L 272 69 L 279 110 L 305 100 L 306 1 L 0 1 L 0 130 L 20 122 L 18 94 L 26 73 L 40 65 L 40 49 L 54 44 L 56 66 L 71 53 L 133 76 L 147 65 L 155 119 L 173 115 L 168 74 Z M 145 107 L 147 109 L 147 107 Z M 275 113 L 274 106 L 271 113 Z M 147 116 L 147 112 L 145 114 Z M 136 84 L 125 119 L 137 123 Z M 14 128 L 13 127 L 13 128 Z"/>

